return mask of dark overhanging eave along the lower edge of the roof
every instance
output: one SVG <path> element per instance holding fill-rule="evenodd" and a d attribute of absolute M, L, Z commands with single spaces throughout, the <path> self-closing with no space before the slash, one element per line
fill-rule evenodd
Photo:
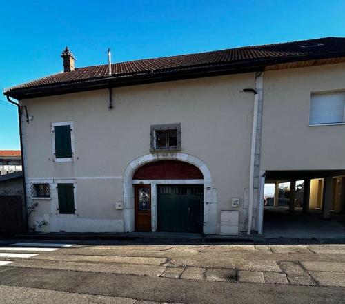
<path fill-rule="evenodd" d="M 267 66 L 275 64 L 284 64 L 297 61 L 308 61 L 317 59 L 332 59 L 336 57 L 345 57 L 345 50 L 333 53 L 324 53 L 317 55 L 297 55 L 284 58 L 270 58 L 255 61 L 242 61 L 239 63 L 213 64 L 209 66 L 195 66 L 175 68 L 172 70 L 154 70 L 144 73 L 129 75 L 117 75 L 100 79 L 86 79 L 79 82 L 62 83 L 51 86 L 36 88 L 17 88 L 9 89 L 3 92 L 4 95 L 17 100 L 34 97 L 44 97 L 50 95 L 61 95 L 67 93 L 76 93 L 80 91 L 98 90 L 101 88 L 110 88 L 117 86 L 132 86 L 138 84 L 149 84 L 155 82 L 167 82 L 180 79 L 191 79 L 200 77 L 211 77 L 217 75 L 228 75 L 238 73 L 251 73 L 264 70 Z"/>

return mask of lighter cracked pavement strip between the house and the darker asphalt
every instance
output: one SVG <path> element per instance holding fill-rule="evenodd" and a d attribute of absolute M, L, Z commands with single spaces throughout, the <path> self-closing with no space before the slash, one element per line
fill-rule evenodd
<path fill-rule="evenodd" d="M 5 250 L 6 249 L 6 250 Z M 11 253 L 23 254 L 14 258 Z M 345 287 L 345 245 L 210 245 L 208 243 L 79 242 L 58 251 L 0 248 L 3 267 L 179 280 Z M 10 253 L 10 256 L 8 254 Z"/>

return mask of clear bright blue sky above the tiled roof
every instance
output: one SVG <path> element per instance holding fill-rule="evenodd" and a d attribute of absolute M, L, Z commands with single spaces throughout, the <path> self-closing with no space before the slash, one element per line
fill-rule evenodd
<path fill-rule="evenodd" d="M 0 88 L 76 66 L 345 36 L 345 1 L 1 1 Z M 17 108 L 0 95 L 0 149 L 19 149 Z"/>

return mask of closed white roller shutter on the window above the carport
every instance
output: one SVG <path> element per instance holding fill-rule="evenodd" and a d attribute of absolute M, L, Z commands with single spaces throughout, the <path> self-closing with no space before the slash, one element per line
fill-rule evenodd
<path fill-rule="evenodd" d="M 309 124 L 337 124 L 344 122 L 345 92 L 311 94 Z"/>

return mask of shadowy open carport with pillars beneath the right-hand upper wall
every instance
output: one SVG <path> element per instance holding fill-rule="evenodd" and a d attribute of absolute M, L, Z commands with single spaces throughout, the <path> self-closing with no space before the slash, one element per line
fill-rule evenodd
<path fill-rule="evenodd" d="M 268 238 L 345 236 L 345 171 L 266 171 L 263 234 Z"/>

